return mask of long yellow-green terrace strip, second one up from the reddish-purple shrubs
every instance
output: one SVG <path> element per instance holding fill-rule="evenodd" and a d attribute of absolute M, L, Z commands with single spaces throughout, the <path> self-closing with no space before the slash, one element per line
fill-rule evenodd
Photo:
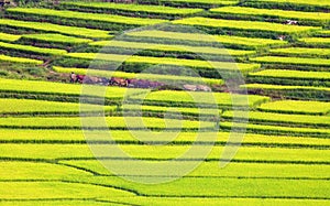
<path fill-rule="evenodd" d="M 198 59 L 182 59 L 170 57 L 152 57 L 152 56 L 130 56 L 130 55 L 118 55 L 118 54 L 96 54 L 96 53 L 68 53 L 68 57 L 85 58 L 85 59 L 100 59 L 106 62 L 125 62 L 135 64 L 161 64 L 161 65 L 177 65 L 188 66 L 193 68 L 204 69 L 223 69 L 223 71 L 238 71 L 248 73 L 260 67 L 258 64 L 245 64 L 245 63 L 230 63 L 230 62 L 207 62 Z"/>

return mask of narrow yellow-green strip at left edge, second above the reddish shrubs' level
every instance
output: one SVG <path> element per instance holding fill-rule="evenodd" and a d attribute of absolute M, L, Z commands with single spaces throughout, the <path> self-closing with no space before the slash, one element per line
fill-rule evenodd
<path fill-rule="evenodd" d="M 33 53 L 46 54 L 46 55 L 65 55 L 67 53 L 65 50 L 44 48 L 44 47 L 36 47 L 36 46 L 21 45 L 21 44 L 11 44 L 11 43 L 4 43 L 4 42 L 0 42 L 0 47 L 23 51 L 23 52 L 28 52 L 28 53 L 33 52 Z"/>

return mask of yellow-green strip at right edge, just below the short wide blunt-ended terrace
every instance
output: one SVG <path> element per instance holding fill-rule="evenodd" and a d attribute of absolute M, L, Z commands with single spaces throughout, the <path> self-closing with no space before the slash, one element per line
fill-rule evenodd
<path fill-rule="evenodd" d="M 249 119 L 252 122 L 274 122 L 274 123 L 285 123 L 285 124 L 300 124 L 300 126 L 321 126 L 330 127 L 330 116 L 310 116 L 310 115 L 286 115 L 286 113 L 274 113 L 274 112 L 260 112 L 250 111 L 249 117 L 245 117 L 244 112 L 233 112 L 226 111 L 221 117 L 232 119 L 233 117 L 238 119 Z"/>

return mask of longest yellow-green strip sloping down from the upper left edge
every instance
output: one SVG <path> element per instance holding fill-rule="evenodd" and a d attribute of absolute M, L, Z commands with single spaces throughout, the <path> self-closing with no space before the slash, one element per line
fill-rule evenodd
<path fill-rule="evenodd" d="M 43 31 L 43 32 L 55 32 L 61 34 L 85 36 L 91 39 L 111 37 L 109 31 L 58 25 L 58 24 L 46 23 L 46 22 L 29 22 L 29 21 L 19 21 L 19 20 L 10 20 L 10 19 L 0 19 L 0 25 L 3 28 L 7 26 L 14 28 L 16 30 L 24 29 L 24 30 Z"/>

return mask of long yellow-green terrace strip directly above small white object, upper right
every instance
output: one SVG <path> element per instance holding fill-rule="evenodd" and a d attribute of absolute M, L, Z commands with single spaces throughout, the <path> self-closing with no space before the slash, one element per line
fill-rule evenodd
<path fill-rule="evenodd" d="M 314 20 L 314 21 L 329 21 L 329 13 L 321 12 L 302 12 L 302 11 L 286 11 L 278 9 L 256 9 L 248 7 L 223 7 L 211 9 L 210 11 L 217 13 L 230 14 L 246 14 L 246 15 L 261 15 L 261 17 L 277 17 L 283 19 L 298 19 L 298 20 Z"/>

